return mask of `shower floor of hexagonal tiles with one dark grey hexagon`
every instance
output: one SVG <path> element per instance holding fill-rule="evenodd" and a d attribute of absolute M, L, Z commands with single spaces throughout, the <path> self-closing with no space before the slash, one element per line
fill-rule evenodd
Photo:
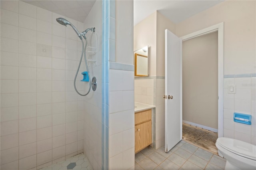
<path fill-rule="evenodd" d="M 40 170 L 68 170 L 71 169 L 70 167 L 72 167 L 72 170 L 93 170 L 89 160 L 84 156 L 83 153 L 72 156 L 50 166 L 46 166 Z"/>

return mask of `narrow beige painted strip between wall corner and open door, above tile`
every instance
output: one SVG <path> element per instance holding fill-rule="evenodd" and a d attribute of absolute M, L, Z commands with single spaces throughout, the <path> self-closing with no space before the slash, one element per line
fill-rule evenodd
<path fill-rule="evenodd" d="M 164 46 L 165 33 L 164 30 L 170 30 L 175 33 L 175 24 L 157 12 L 156 18 L 156 75 L 164 76 Z"/>

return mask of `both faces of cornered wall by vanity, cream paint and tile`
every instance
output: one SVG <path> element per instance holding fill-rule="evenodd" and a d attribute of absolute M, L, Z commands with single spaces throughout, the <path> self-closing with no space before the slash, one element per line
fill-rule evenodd
<path fill-rule="evenodd" d="M 134 26 L 134 50 L 149 46 L 149 76 L 136 78 L 135 101 L 156 106 L 154 112 L 154 147 L 164 145 L 164 30 L 175 32 L 175 25 L 154 12 Z"/>

